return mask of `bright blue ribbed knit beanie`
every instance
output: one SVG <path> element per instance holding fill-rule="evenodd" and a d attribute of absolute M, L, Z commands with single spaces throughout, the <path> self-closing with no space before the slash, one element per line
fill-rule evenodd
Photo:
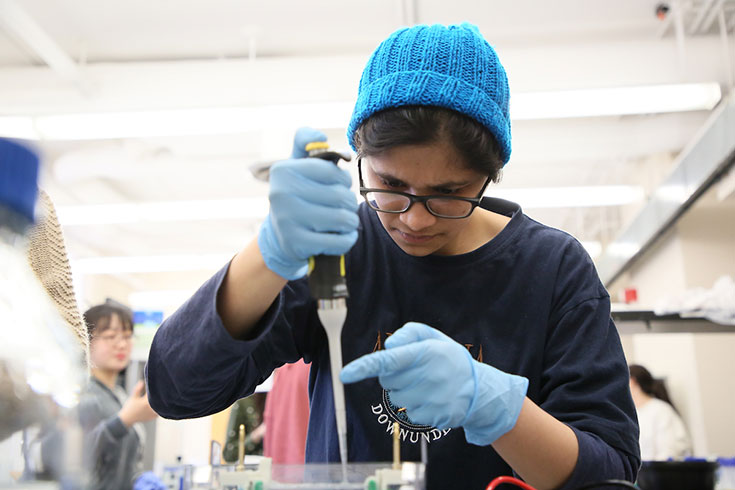
<path fill-rule="evenodd" d="M 357 150 L 355 131 L 384 109 L 446 107 L 489 129 L 508 163 L 509 98 L 505 69 L 477 26 L 465 22 L 402 28 L 378 46 L 362 72 L 347 139 Z"/>

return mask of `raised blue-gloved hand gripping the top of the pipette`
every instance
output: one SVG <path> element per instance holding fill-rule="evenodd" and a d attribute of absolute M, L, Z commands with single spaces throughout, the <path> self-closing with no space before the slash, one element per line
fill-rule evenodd
<path fill-rule="evenodd" d="M 350 174 L 332 162 L 306 158 L 308 143 L 326 139 L 321 131 L 299 129 L 291 159 L 270 169 L 270 211 L 258 247 L 265 265 L 285 279 L 306 274 L 312 255 L 342 255 L 357 241 Z"/>

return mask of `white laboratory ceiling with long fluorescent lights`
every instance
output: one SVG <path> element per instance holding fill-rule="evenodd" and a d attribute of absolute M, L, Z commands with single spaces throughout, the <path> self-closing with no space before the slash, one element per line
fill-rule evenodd
<path fill-rule="evenodd" d="M 733 0 L 0 0 L 0 136 L 42 152 L 83 307 L 167 309 L 257 232 L 251 165 L 285 157 L 301 125 L 347 148 L 375 46 L 462 21 L 511 86 L 513 155 L 487 194 L 593 257 L 732 86 Z M 671 95 L 640 93 L 658 86 Z M 704 100 L 685 104 L 692 91 Z"/>

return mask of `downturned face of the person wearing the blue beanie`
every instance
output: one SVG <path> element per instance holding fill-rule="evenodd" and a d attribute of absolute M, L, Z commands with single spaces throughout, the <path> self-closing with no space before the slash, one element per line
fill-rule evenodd
<path fill-rule="evenodd" d="M 409 194 L 477 197 L 487 176 L 467 167 L 456 150 L 441 141 L 400 146 L 362 159 L 366 187 Z M 477 210 L 467 218 L 432 215 L 422 203 L 401 214 L 378 212 L 393 241 L 407 254 L 456 255 L 471 251 L 467 229 Z"/>

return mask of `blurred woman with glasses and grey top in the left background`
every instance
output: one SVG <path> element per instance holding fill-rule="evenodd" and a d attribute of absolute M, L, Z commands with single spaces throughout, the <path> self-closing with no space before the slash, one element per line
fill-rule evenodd
<path fill-rule="evenodd" d="M 133 347 L 131 312 L 115 302 L 84 313 L 89 334 L 91 377 L 79 401 L 84 432 L 84 462 L 95 490 L 131 490 L 143 474 L 144 432 L 140 422 L 156 413 L 148 403 L 143 381 L 130 397 L 118 376 L 130 363 Z"/>

